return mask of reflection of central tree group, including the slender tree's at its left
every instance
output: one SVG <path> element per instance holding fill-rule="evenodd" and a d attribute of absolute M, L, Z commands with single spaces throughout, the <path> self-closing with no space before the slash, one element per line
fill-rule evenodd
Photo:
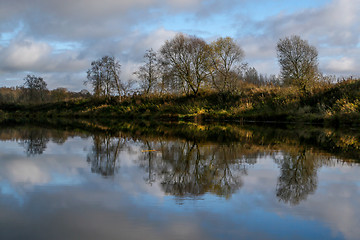
<path fill-rule="evenodd" d="M 164 191 L 175 196 L 213 192 L 230 197 L 242 186 L 241 176 L 246 174 L 245 158 L 236 144 L 146 141 L 143 149 L 140 166 L 148 173 L 147 181 L 158 179 Z"/>

